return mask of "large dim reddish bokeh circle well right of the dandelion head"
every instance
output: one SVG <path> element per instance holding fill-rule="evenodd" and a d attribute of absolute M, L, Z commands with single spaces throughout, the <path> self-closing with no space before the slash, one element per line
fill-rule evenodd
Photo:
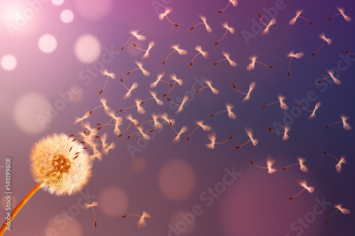
<path fill-rule="evenodd" d="M 192 193 L 195 188 L 195 172 L 185 161 L 173 159 L 160 168 L 158 183 L 165 197 L 179 201 Z"/>

